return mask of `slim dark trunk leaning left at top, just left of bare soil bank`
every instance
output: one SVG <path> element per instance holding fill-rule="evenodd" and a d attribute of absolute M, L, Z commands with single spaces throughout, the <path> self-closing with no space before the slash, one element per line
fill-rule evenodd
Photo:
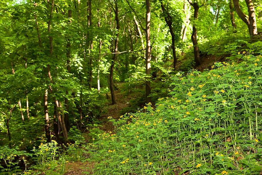
<path fill-rule="evenodd" d="M 169 32 L 171 34 L 171 40 L 172 40 L 171 48 L 172 48 L 172 54 L 173 54 L 173 59 L 174 59 L 173 68 L 174 70 L 176 70 L 177 57 L 176 57 L 176 46 L 175 46 L 175 34 L 172 28 L 172 16 L 170 16 L 169 12 L 166 11 L 162 0 L 160 0 L 160 3 L 161 3 L 162 11 L 165 14 L 166 24 L 168 25 Z"/>

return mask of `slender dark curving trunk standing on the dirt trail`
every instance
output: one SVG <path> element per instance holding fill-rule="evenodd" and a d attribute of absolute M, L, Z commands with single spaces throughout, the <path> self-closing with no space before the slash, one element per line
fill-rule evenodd
<path fill-rule="evenodd" d="M 115 21 L 116 21 L 116 39 L 115 39 L 115 48 L 114 48 L 114 53 L 113 53 L 113 58 L 111 61 L 111 66 L 110 66 L 110 75 L 109 75 L 109 87 L 110 87 L 110 92 L 111 92 L 111 99 L 112 99 L 112 104 L 116 104 L 115 101 L 115 91 L 114 91 L 114 84 L 113 84 L 113 73 L 114 73 L 114 65 L 115 61 L 117 59 L 117 46 L 118 46 L 118 37 L 119 37 L 119 29 L 120 29 L 120 24 L 119 24 L 119 18 L 118 18 L 118 6 L 117 6 L 117 0 L 115 0 L 115 9 L 113 9 L 115 12 Z"/>

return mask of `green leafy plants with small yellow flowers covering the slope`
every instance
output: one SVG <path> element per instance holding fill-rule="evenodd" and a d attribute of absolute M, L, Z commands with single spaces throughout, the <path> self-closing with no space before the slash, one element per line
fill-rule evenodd
<path fill-rule="evenodd" d="M 22 174 L 65 174 L 75 161 L 87 163 L 86 174 L 99 175 L 261 174 L 262 56 L 236 57 L 203 73 L 176 74 L 155 108 L 109 117 L 115 131 L 93 128 L 89 143 L 81 135 L 60 146 L 42 139 L 33 149 L 35 170 Z"/>

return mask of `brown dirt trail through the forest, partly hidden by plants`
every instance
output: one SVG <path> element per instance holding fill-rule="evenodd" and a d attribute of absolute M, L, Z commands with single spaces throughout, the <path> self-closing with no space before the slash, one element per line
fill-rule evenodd
<path fill-rule="evenodd" d="M 128 107 L 128 97 L 121 93 L 123 83 L 118 83 L 118 90 L 115 91 L 115 99 L 117 104 L 112 105 L 111 94 L 109 94 L 108 102 L 106 103 L 106 112 L 99 118 L 102 121 L 100 129 L 103 131 L 113 131 L 114 126 L 112 122 L 108 121 L 107 117 L 111 116 L 114 119 L 118 119 L 121 116 L 121 110 Z M 69 162 L 66 166 L 66 173 L 64 175 L 86 175 L 93 174 L 94 162 Z"/>

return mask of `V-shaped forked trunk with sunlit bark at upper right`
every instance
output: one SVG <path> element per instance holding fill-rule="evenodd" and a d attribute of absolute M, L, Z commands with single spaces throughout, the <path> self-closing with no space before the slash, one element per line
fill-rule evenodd
<path fill-rule="evenodd" d="M 257 35 L 257 22 L 255 15 L 255 7 L 252 0 L 245 0 L 246 6 L 248 7 L 248 16 L 244 14 L 240 8 L 239 0 L 233 0 L 233 4 L 238 16 L 246 23 L 248 26 L 248 31 L 250 36 Z"/>

